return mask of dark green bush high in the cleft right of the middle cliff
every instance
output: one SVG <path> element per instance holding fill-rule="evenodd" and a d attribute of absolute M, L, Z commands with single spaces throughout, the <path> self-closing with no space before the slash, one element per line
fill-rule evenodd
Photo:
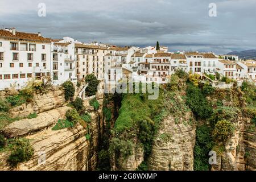
<path fill-rule="evenodd" d="M 191 108 L 196 117 L 206 119 L 212 114 L 212 107 L 195 85 L 188 84 L 186 104 Z"/>

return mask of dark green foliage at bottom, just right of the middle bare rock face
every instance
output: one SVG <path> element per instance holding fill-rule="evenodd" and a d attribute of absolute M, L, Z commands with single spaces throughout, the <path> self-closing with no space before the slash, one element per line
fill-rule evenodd
<path fill-rule="evenodd" d="M 208 171 L 209 151 L 212 150 L 214 142 L 212 139 L 212 130 L 208 126 L 199 126 L 196 129 L 196 144 L 194 148 L 194 170 Z"/>

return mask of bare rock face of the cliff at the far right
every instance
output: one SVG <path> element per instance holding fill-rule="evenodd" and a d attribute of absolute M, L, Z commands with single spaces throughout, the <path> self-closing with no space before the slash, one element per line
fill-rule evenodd
<path fill-rule="evenodd" d="M 253 125 L 250 118 L 237 118 L 237 130 L 225 142 L 224 151 L 217 155 L 217 164 L 212 166 L 212 170 L 256 169 L 256 131 Z"/>

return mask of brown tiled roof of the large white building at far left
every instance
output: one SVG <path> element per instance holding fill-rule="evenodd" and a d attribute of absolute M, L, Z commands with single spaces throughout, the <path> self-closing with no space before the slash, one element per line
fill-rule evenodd
<path fill-rule="evenodd" d="M 9 39 L 23 39 L 23 40 L 30 40 L 35 42 L 47 42 L 50 43 L 52 39 L 44 38 L 43 36 L 39 36 L 38 34 L 26 33 L 26 32 L 18 32 L 15 31 L 15 35 L 7 30 L 0 30 L 0 36 L 9 38 Z"/>

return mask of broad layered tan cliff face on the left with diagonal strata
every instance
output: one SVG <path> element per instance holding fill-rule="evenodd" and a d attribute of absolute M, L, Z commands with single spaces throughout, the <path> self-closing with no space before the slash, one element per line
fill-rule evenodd
<path fill-rule="evenodd" d="M 22 105 L 11 110 L 12 113 L 27 115 L 39 113 L 38 117 L 22 119 L 8 125 L 3 133 L 10 138 L 25 137 L 35 152 L 28 162 L 20 163 L 16 168 L 7 164 L 9 152 L 0 152 L 0 170 L 94 170 L 97 165 L 98 138 L 101 135 L 102 102 L 98 95 L 100 109 L 94 111 L 89 100 L 84 101 L 85 109 L 91 115 L 90 139 L 86 128 L 79 123 L 74 127 L 53 131 L 58 119 L 65 118 L 65 112 L 71 107 L 65 106 L 61 89 L 48 92 L 35 98 L 34 104 Z M 18 112 L 18 113 L 17 113 Z"/>

